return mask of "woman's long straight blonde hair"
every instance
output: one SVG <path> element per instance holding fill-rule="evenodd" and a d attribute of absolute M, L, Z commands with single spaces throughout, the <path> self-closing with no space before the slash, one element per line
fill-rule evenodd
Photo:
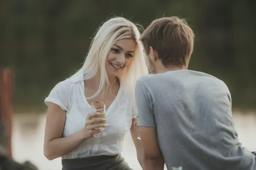
<path fill-rule="evenodd" d="M 93 96 L 90 96 L 87 99 L 92 99 L 97 96 L 99 92 L 105 88 L 106 83 L 108 86 L 110 85 L 106 71 L 108 53 L 117 40 L 124 38 L 135 40 L 137 42 L 137 47 L 134 51 L 134 57 L 131 58 L 130 64 L 120 73 L 119 93 L 129 96 L 133 112 L 136 112 L 135 84 L 139 77 L 148 74 L 148 68 L 145 64 L 145 57 L 143 55 L 143 45 L 138 42 L 140 31 L 131 21 L 123 17 L 114 17 L 103 23 L 90 44 L 90 49 L 84 61 L 84 65 L 76 72 L 76 74 L 83 74 L 84 79 L 90 79 L 96 75 L 100 68 L 101 77 L 99 89 Z M 76 76 L 76 74 L 73 76 Z"/>

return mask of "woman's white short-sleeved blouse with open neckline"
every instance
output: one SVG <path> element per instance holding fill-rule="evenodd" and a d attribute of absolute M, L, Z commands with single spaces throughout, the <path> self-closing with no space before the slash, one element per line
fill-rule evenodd
<path fill-rule="evenodd" d="M 121 94 L 118 92 L 118 95 Z M 59 82 L 44 102 L 46 105 L 49 102 L 55 103 L 61 109 L 67 111 L 63 137 L 70 136 L 84 128 L 88 113 L 93 113 L 84 95 L 84 79 L 82 74 Z M 106 111 L 108 127 L 105 127 L 104 133 L 107 135 L 101 138 L 93 136 L 61 158 L 74 159 L 121 153 L 125 133 L 131 129 L 132 119 L 135 117 L 136 115 L 132 114 L 127 96 L 122 94 L 118 101 L 114 99 Z"/>

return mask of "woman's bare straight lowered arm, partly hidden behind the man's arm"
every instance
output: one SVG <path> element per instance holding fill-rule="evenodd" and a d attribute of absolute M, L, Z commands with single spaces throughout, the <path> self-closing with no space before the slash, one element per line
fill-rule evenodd
<path fill-rule="evenodd" d="M 138 133 L 138 128 L 137 128 L 137 124 L 136 124 L 136 119 L 132 119 L 132 125 L 131 125 L 131 138 L 134 142 L 136 151 L 137 151 L 137 159 L 140 163 L 140 166 L 142 167 L 142 161 L 143 161 L 143 154 L 144 154 L 144 150 L 143 150 L 143 145 L 141 143 L 141 140 L 138 139 L 139 133 Z"/>

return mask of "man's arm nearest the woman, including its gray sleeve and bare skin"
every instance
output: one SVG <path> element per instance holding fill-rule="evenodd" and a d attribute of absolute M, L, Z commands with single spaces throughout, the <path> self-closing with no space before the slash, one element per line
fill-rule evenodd
<path fill-rule="evenodd" d="M 138 79 L 135 88 L 139 116 L 138 127 L 143 145 L 143 170 L 163 170 L 164 161 L 160 151 L 154 113 L 154 95 L 145 79 Z"/>

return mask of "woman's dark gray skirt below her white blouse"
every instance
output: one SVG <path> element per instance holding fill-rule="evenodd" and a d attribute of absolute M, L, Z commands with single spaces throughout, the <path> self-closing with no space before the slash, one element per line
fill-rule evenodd
<path fill-rule="evenodd" d="M 62 170 L 132 170 L 121 154 L 62 159 Z"/>

